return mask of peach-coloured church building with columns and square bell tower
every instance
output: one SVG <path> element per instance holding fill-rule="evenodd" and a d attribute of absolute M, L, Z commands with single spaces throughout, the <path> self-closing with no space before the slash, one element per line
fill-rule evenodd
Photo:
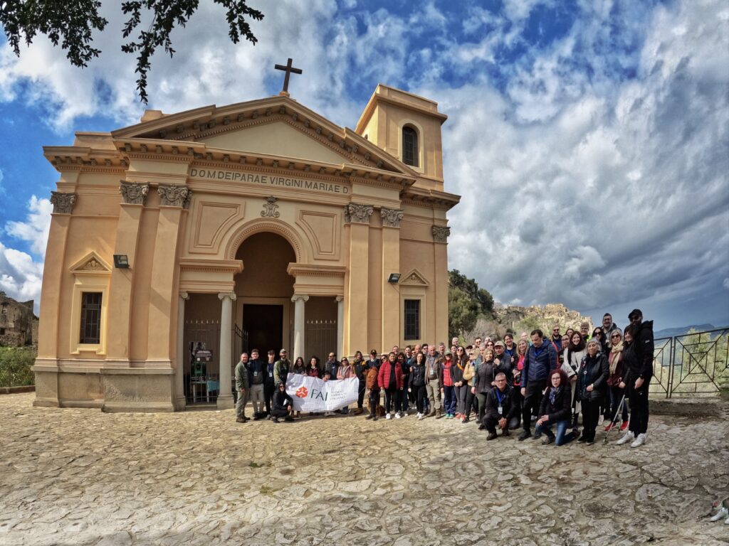
<path fill-rule="evenodd" d="M 230 408 L 243 350 L 445 341 L 445 119 L 379 85 L 351 130 L 281 92 L 44 148 L 35 405 Z"/>

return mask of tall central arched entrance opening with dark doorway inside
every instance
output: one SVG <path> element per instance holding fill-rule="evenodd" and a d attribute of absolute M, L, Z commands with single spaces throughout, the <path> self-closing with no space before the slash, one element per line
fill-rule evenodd
<path fill-rule="evenodd" d="M 235 325 L 241 348 L 255 347 L 262 357 L 273 349 L 278 355 L 281 347 L 291 344 L 294 279 L 286 268 L 296 261 L 294 249 L 281 235 L 261 232 L 244 240 L 235 258 L 243 261 L 243 272 L 235 275 Z"/>

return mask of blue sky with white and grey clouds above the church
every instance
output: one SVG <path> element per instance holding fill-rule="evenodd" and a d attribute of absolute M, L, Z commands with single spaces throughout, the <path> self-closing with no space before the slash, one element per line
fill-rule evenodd
<path fill-rule="evenodd" d="M 204 3 L 156 55 L 149 108 L 273 95 L 354 127 L 378 83 L 432 98 L 443 125 L 449 266 L 504 304 L 563 302 L 624 325 L 729 324 L 729 7 L 690 2 L 258 2 L 259 43 Z M 44 39 L 0 44 L 0 289 L 39 299 L 58 175 L 44 145 L 139 120 L 123 17 L 72 68 Z"/>

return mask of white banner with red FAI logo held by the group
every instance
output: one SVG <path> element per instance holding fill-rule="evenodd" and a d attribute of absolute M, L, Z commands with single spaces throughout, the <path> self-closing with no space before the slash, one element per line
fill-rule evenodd
<path fill-rule="evenodd" d="M 334 411 L 357 401 L 359 379 L 324 381 L 303 373 L 286 376 L 286 392 L 294 400 L 295 411 Z"/>

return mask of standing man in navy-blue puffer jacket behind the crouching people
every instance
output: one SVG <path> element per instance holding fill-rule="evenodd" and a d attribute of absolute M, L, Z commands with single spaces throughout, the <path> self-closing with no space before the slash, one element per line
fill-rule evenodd
<path fill-rule="evenodd" d="M 524 397 L 521 419 L 524 432 L 519 435 L 520 441 L 531 436 L 531 414 L 539 411 L 542 393 L 547 387 L 547 376 L 557 366 L 557 352 L 553 344 L 545 340 L 541 330 L 532 330 L 531 346 L 526 349 L 524 368 L 521 371 L 521 395 Z M 534 432 L 534 440 L 541 435 L 541 432 Z"/>

